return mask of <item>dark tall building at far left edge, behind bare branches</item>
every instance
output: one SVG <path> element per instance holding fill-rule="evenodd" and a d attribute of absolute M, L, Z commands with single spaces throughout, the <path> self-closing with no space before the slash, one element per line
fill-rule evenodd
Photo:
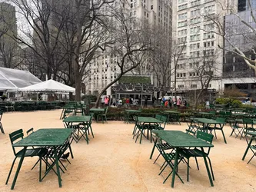
<path fill-rule="evenodd" d="M 17 35 L 15 6 L 0 3 L 0 66 L 13 68 L 17 43 L 11 37 Z M 10 37 L 11 36 L 11 37 Z"/>

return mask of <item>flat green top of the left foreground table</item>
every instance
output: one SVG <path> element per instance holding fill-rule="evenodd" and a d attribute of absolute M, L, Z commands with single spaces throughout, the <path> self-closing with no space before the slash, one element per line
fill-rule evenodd
<path fill-rule="evenodd" d="M 49 128 L 39 129 L 28 137 L 13 144 L 13 147 L 30 147 L 30 146 L 60 146 L 64 144 L 71 134 L 72 129 Z"/>

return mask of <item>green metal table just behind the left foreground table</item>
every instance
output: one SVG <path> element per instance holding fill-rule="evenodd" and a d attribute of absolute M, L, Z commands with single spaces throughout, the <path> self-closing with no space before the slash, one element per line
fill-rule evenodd
<path fill-rule="evenodd" d="M 68 118 L 65 118 L 63 120 L 63 123 L 66 128 L 71 127 L 73 129 L 73 126 L 72 126 L 73 124 L 82 123 L 82 124 L 84 124 L 84 126 L 87 126 L 87 127 L 90 126 L 90 124 L 89 124 L 90 120 L 91 120 L 91 116 L 69 116 Z M 76 130 L 74 130 L 74 132 L 73 132 L 73 136 L 75 136 L 75 141 L 78 143 L 78 141 L 80 140 L 79 139 L 79 131 L 77 130 L 78 133 L 75 133 L 75 131 Z M 91 134 L 93 134 L 92 130 L 91 130 Z M 88 144 L 88 141 L 89 141 L 88 137 L 86 137 L 85 141 Z"/>

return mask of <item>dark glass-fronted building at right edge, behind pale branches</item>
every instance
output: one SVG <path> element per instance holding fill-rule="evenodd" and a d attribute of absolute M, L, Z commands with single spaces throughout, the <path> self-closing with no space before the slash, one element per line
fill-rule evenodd
<path fill-rule="evenodd" d="M 238 7 L 239 8 L 239 7 Z M 256 9 L 253 10 L 256 15 Z M 244 52 L 248 58 L 255 59 L 255 33 L 251 31 L 244 22 L 252 28 L 256 28 L 256 23 L 251 18 L 251 10 L 238 12 L 237 15 L 225 16 L 226 38 Z M 250 68 L 243 58 L 234 54 L 234 47 L 228 42 L 225 43 L 224 61 L 223 61 L 223 84 L 224 88 L 238 88 L 240 91 L 248 94 L 248 97 L 256 97 L 256 76 L 254 69 Z M 228 51 L 229 50 L 229 51 Z"/>

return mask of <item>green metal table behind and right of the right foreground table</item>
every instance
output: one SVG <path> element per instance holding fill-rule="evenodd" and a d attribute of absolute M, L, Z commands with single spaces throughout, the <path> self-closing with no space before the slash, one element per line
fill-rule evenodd
<path fill-rule="evenodd" d="M 198 124 L 201 123 L 202 128 L 206 129 L 207 131 L 208 131 L 208 128 L 211 127 L 211 124 L 214 124 L 214 127 L 211 127 L 211 128 L 213 128 L 214 131 L 215 130 L 221 130 L 222 136 L 224 138 L 224 142 L 225 142 L 225 144 L 227 144 L 226 137 L 225 137 L 224 131 L 223 131 L 223 127 L 224 127 L 224 124 L 225 124 L 224 121 L 217 121 L 217 120 L 208 119 L 208 118 L 191 118 L 191 119 L 194 122 L 198 123 Z M 217 124 L 219 125 L 219 127 L 217 127 Z M 216 134 L 215 134 L 215 137 L 216 137 Z"/>

